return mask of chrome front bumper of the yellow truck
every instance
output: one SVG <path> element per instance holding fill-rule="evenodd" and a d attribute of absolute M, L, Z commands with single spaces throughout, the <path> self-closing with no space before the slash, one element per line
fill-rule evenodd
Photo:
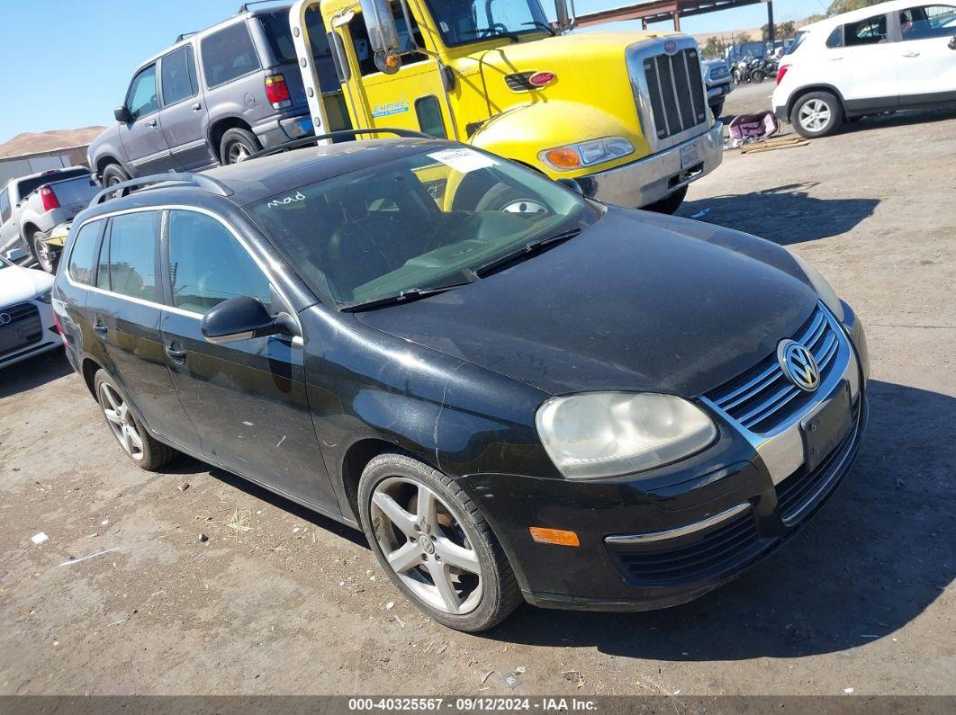
<path fill-rule="evenodd" d="M 682 167 L 682 152 L 696 149 L 699 162 Z M 705 177 L 724 160 L 724 125 L 716 122 L 706 134 L 616 169 L 581 177 L 585 194 L 605 203 L 641 208 L 666 199 L 692 181 Z"/>

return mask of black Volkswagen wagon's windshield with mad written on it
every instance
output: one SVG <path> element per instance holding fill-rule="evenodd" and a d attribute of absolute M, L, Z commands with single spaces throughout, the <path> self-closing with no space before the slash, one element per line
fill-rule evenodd
<path fill-rule="evenodd" d="M 601 216 L 551 179 L 467 147 L 435 147 L 246 210 L 317 295 L 352 308 L 477 280 L 483 267 Z"/>

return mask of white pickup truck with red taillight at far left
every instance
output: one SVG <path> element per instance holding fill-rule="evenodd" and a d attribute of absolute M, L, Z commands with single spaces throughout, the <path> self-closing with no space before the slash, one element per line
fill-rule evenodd
<path fill-rule="evenodd" d="M 0 256 L 20 263 L 33 254 L 53 273 L 62 248 L 48 242 L 54 229 L 73 221 L 98 191 L 83 166 L 11 179 L 0 189 Z"/>

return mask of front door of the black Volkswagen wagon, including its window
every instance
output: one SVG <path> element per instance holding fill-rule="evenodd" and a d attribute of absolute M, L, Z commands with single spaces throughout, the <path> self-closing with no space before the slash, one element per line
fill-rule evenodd
<path fill-rule="evenodd" d="M 227 345 L 203 338 L 203 315 L 238 295 L 273 313 L 291 310 L 225 223 L 172 210 L 163 241 L 167 298 L 163 347 L 202 450 L 250 479 L 327 511 L 338 502 L 319 451 L 306 394 L 301 339 Z"/>

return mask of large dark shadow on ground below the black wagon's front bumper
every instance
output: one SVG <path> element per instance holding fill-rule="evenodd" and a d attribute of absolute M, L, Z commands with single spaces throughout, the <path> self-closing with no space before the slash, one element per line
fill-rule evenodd
<path fill-rule="evenodd" d="M 873 382 L 857 464 L 787 548 L 684 606 L 637 614 L 525 607 L 487 634 L 665 661 L 738 661 L 846 650 L 889 637 L 954 576 L 956 399 Z"/>

